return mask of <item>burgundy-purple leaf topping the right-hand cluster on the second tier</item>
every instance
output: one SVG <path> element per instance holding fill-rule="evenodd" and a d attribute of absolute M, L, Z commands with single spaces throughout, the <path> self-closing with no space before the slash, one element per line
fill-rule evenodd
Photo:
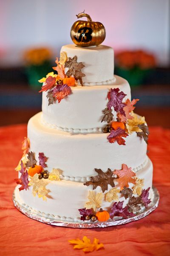
<path fill-rule="evenodd" d="M 119 88 L 111 88 L 111 91 L 108 92 L 108 109 L 113 107 L 116 112 L 120 112 L 125 116 L 125 111 L 123 108 L 126 106 L 126 104 L 123 103 L 122 100 L 126 95 L 127 94 L 123 93 L 122 91 L 119 92 Z"/>

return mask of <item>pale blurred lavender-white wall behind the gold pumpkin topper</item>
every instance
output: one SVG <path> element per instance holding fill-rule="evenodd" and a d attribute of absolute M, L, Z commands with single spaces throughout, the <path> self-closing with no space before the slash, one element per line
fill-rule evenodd
<path fill-rule="evenodd" d="M 59 55 L 71 44 L 70 28 L 79 12 L 106 28 L 104 44 L 142 48 L 169 62 L 169 0 L 0 0 L 0 65 L 19 65 L 23 50 L 45 45 Z"/>

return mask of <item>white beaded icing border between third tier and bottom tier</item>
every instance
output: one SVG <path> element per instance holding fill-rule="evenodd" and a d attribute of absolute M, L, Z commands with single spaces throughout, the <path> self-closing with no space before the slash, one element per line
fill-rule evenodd
<path fill-rule="evenodd" d="M 135 172 L 135 173 L 140 171 L 142 168 L 144 168 L 147 165 L 147 162 L 148 162 L 148 157 L 146 157 L 146 159 L 144 160 L 144 162 L 142 164 L 140 164 L 137 167 L 134 167 L 132 169 L 132 171 Z M 75 181 L 75 182 L 86 182 L 86 181 L 89 181 L 90 177 L 91 177 L 91 176 L 88 176 L 88 177 L 70 177 L 70 176 L 64 176 L 64 175 L 59 175 L 59 176 L 60 176 L 60 179 L 62 179 L 62 180 L 71 180 L 71 181 Z"/>

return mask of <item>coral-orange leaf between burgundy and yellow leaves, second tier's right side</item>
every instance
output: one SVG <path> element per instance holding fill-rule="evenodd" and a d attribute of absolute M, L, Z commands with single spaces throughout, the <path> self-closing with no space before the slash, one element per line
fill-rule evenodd
<path fill-rule="evenodd" d="M 126 106 L 123 108 L 123 110 L 125 111 L 125 115 L 122 115 L 121 113 L 117 114 L 117 117 L 119 118 L 120 122 L 126 122 L 127 119 L 133 119 L 133 116 L 130 115 L 130 112 L 135 109 L 134 105 L 138 101 L 139 99 L 133 99 L 132 101 L 130 101 L 130 99 L 126 100 Z"/>

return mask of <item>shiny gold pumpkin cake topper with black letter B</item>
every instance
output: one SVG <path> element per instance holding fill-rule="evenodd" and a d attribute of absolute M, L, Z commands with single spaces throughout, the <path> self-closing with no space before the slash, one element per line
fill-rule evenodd
<path fill-rule="evenodd" d="M 85 12 L 85 11 L 84 11 Z M 92 21 L 86 13 L 79 13 L 77 18 L 87 17 L 88 20 L 77 20 L 71 27 L 71 39 L 81 47 L 97 46 L 105 40 L 106 31 L 102 23 Z"/>

